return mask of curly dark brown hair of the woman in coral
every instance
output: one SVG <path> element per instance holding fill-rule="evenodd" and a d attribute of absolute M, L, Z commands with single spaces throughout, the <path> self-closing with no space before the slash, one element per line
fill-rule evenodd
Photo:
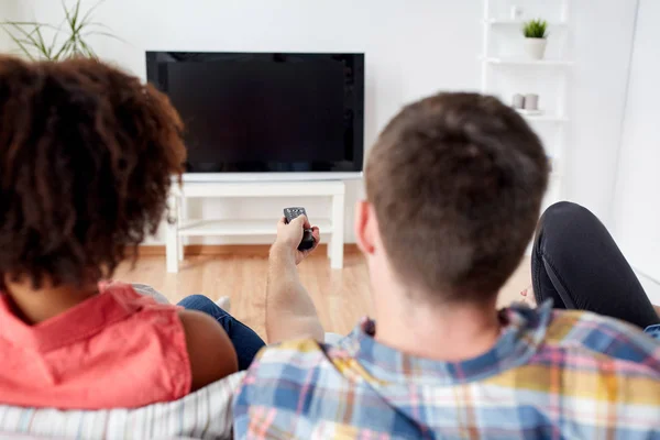
<path fill-rule="evenodd" d="M 167 97 L 117 68 L 0 57 L 0 288 L 111 276 L 163 220 L 182 133 Z"/>

